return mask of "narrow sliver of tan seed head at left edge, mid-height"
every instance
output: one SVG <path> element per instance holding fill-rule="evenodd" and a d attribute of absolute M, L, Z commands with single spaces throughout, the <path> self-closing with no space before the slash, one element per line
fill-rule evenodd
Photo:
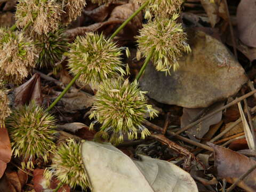
<path fill-rule="evenodd" d="M 8 90 L 4 88 L 3 82 L 0 81 L 0 129 L 4 127 L 5 118 L 11 114 L 7 92 Z"/>

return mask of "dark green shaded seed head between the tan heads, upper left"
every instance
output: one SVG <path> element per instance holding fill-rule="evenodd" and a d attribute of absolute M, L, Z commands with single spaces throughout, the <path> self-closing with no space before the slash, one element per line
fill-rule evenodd
<path fill-rule="evenodd" d="M 36 43 L 38 51 L 37 65 L 40 67 L 57 67 L 55 63 L 59 62 L 63 53 L 68 50 L 68 39 L 63 30 L 50 32 L 42 35 L 42 38 Z"/>

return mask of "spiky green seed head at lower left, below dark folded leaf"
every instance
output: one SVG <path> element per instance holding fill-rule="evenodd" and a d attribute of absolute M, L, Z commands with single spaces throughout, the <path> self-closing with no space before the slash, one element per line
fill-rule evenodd
<path fill-rule="evenodd" d="M 15 157 L 22 157 L 22 167 L 34 167 L 33 159 L 42 157 L 47 162 L 54 148 L 55 118 L 35 102 L 18 107 L 6 119 L 12 151 Z"/>

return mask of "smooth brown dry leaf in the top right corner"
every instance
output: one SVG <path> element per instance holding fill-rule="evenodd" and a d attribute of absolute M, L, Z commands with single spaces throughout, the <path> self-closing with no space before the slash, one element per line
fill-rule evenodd
<path fill-rule="evenodd" d="M 256 47 L 256 0 L 243 0 L 237 7 L 239 39 L 247 46 Z"/>

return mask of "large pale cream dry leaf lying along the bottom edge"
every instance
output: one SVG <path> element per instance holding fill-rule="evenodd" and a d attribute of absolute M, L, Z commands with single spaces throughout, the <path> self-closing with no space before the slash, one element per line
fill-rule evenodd
<path fill-rule="evenodd" d="M 94 192 L 198 191 L 190 174 L 170 162 L 142 155 L 135 161 L 109 143 L 93 141 L 83 142 L 81 151 Z"/>

